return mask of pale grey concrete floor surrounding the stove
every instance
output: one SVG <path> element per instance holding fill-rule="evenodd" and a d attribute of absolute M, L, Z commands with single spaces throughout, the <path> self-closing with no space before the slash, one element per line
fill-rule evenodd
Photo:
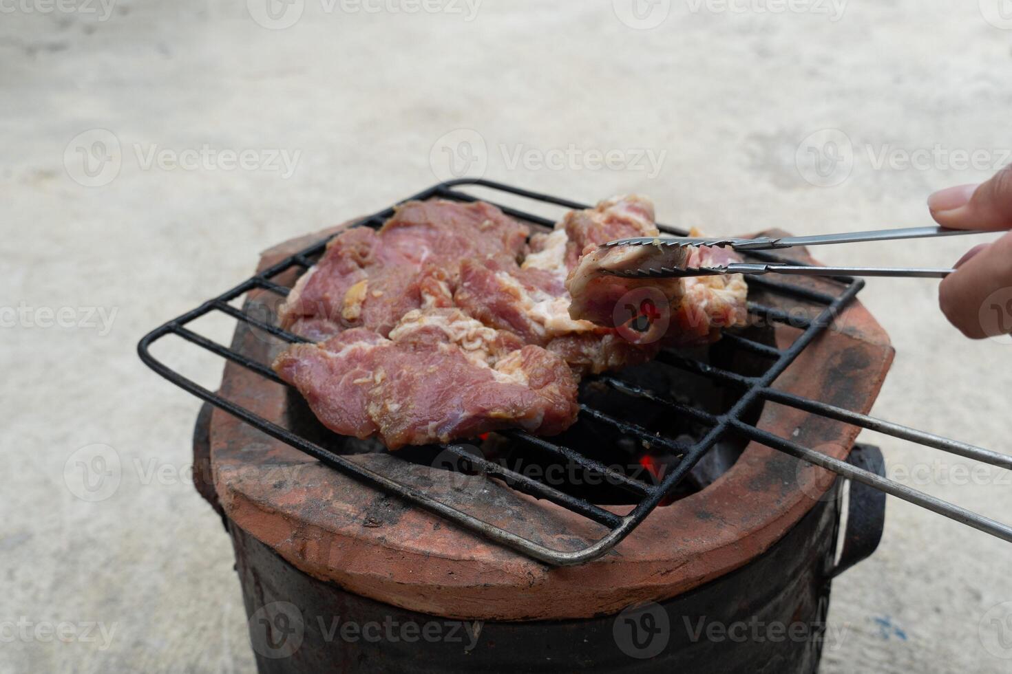
<path fill-rule="evenodd" d="M 639 15 L 629 1 L 486 0 L 472 15 L 462 0 L 434 13 L 296 0 L 284 29 L 294 14 L 271 19 L 258 0 L 4 4 L 0 672 L 253 667 L 229 541 L 189 480 L 198 403 L 135 345 L 244 278 L 258 251 L 426 187 L 451 156 L 582 200 L 640 191 L 663 220 L 715 234 L 926 224 L 929 192 L 1010 159 L 999 0 L 675 0 Z M 977 166 L 953 151 L 979 151 Z M 944 266 L 968 246 L 822 257 Z M 874 411 L 1012 451 L 1012 346 L 965 342 L 935 292 L 864 291 L 897 348 Z M 216 361 L 172 356 L 214 384 Z M 967 478 L 965 462 L 867 440 L 897 479 L 1009 518 L 1007 474 Z M 834 587 L 845 638 L 823 671 L 1009 671 L 1010 552 L 891 499 L 879 552 Z"/>

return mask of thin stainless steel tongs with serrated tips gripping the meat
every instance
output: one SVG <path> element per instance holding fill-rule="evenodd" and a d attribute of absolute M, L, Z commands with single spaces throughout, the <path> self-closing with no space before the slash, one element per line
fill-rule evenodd
<path fill-rule="evenodd" d="M 944 227 L 912 227 L 906 229 L 878 229 L 852 231 L 842 234 L 817 234 L 814 236 L 781 236 L 773 238 L 701 238 L 691 236 L 644 236 L 622 238 L 602 245 L 601 248 L 620 246 L 656 246 L 673 253 L 689 246 L 729 247 L 735 251 L 772 251 L 795 246 L 825 246 L 828 244 L 856 244 L 858 242 L 886 242 L 902 238 L 930 238 L 934 236 L 959 236 L 986 233 L 981 230 L 946 229 Z M 728 263 L 711 267 L 688 267 L 687 256 L 672 256 L 673 261 L 663 264 L 649 259 L 647 265 L 631 269 L 605 270 L 607 274 L 625 278 L 670 278 L 680 276 L 712 276 L 716 274 L 800 274 L 805 276 L 906 276 L 919 278 L 944 278 L 954 269 L 926 269 L 905 267 L 817 267 L 787 263 Z"/>

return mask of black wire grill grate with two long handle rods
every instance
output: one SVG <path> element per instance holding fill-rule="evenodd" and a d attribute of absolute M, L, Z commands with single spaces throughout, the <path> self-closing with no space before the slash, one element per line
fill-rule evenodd
<path fill-rule="evenodd" d="M 411 199 L 428 199 L 433 197 L 455 199 L 461 201 L 475 201 L 477 197 L 467 194 L 458 187 L 474 186 L 493 190 L 500 195 L 512 195 L 532 199 L 544 204 L 562 206 L 569 209 L 583 209 L 587 206 L 577 202 L 560 199 L 543 194 L 537 194 L 526 190 L 521 190 L 506 185 L 493 183 L 484 180 L 457 180 L 442 183 L 431 187 L 424 192 L 410 197 Z M 495 200 L 489 200 L 496 203 Z M 523 212 L 516 208 L 511 208 L 497 204 L 509 215 L 552 226 L 553 220 L 538 215 Z M 394 213 L 393 208 L 388 208 L 370 217 L 367 217 L 354 226 L 376 227 L 383 224 Z M 672 227 L 662 228 L 676 234 L 685 234 L 685 231 Z M 139 344 L 138 352 L 141 359 L 148 364 L 155 372 L 162 375 L 172 383 L 180 386 L 193 395 L 216 405 L 223 410 L 233 414 L 243 421 L 253 425 L 259 430 L 283 442 L 291 447 L 305 452 L 316 458 L 323 464 L 336 470 L 342 471 L 371 485 L 377 486 L 389 492 L 396 494 L 414 504 L 427 508 L 443 517 L 477 532 L 492 541 L 515 549 L 529 557 L 553 565 L 580 564 L 592 560 L 604 554 L 619 541 L 627 536 L 642 522 L 650 512 L 657 507 L 666 497 L 674 493 L 676 487 L 684 480 L 689 471 L 699 460 L 716 445 L 718 442 L 728 436 L 738 436 L 747 440 L 757 441 L 767 447 L 773 448 L 797 459 L 815 464 L 822 468 L 833 471 L 850 480 L 870 485 L 876 489 L 884 491 L 894 496 L 898 496 L 910 502 L 916 503 L 937 513 L 951 517 L 957 521 L 969 524 L 983 532 L 989 533 L 1005 541 L 1012 542 L 1012 527 L 1009 527 L 996 520 L 984 517 L 958 506 L 941 501 L 923 492 L 911 489 L 903 484 L 880 477 L 875 473 L 856 468 L 844 461 L 826 456 L 803 445 L 780 438 L 766 430 L 760 429 L 746 420 L 746 411 L 757 402 L 770 401 L 781 405 L 788 405 L 812 414 L 819 414 L 826 418 L 842 421 L 848 424 L 867 428 L 878 432 L 891 435 L 893 437 L 919 443 L 921 445 L 950 452 L 952 454 L 979 460 L 1000 468 L 1012 469 L 1012 458 L 991 452 L 979 447 L 966 445 L 956 441 L 940 438 L 921 430 L 899 425 L 881 419 L 876 419 L 864 414 L 859 414 L 841 407 L 827 404 L 818 400 L 808 399 L 791 393 L 786 393 L 772 388 L 776 378 L 787 369 L 787 367 L 797 358 L 797 356 L 816 339 L 820 332 L 832 324 L 836 316 L 854 299 L 861 290 L 863 281 L 850 277 L 834 277 L 833 283 L 829 284 L 836 288 L 833 292 L 822 292 L 811 287 L 773 281 L 768 278 L 751 278 L 750 286 L 762 289 L 764 292 L 786 298 L 793 298 L 809 302 L 820 309 L 818 315 L 814 317 L 799 317 L 788 314 L 782 309 L 754 302 L 749 303 L 750 313 L 761 316 L 769 321 L 788 323 L 799 328 L 800 332 L 794 342 L 786 349 L 762 344 L 750 339 L 736 334 L 726 334 L 725 341 L 735 349 L 764 357 L 769 363 L 768 369 L 758 376 L 746 376 L 730 370 L 721 369 L 712 365 L 694 361 L 673 352 L 663 352 L 658 359 L 661 363 L 678 368 L 683 371 L 693 373 L 719 382 L 722 386 L 735 387 L 740 391 L 740 397 L 730 409 L 721 413 L 713 413 L 684 404 L 657 393 L 645 389 L 639 385 L 623 381 L 620 373 L 604 375 L 596 378 L 598 382 L 609 387 L 611 390 L 623 396 L 640 397 L 651 400 L 654 403 L 669 408 L 674 414 L 684 415 L 693 421 L 703 425 L 706 430 L 694 444 L 680 443 L 675 439 L 658 437 L 655 432 L 637 426 L 636 424 L 615 418 L 604 411 L 588 404 L 581 404 L 580 415 L 583 418 L 592 418 L 599 423 L 610 425 L 622 434 L 649 441 L 654 445 L 660 445 L 665 449 L 681 455 L 681 459 L 672 467 L 659 484 L 649 484 L 636 479 L 621 472 L 615 471 L 598 461 L 584 456 L 578 448 L 557 444 L 544 438 L 537 438 L 522 430 L 500 431 L 499 435 L 506 436 L 514 442 L 530 445 L 539 451 L 547 452 L 551 455 L 567 462 L 572 462 L 580 466 L 588 473 L 601 476 L 610 484 L 621 488 L 636 499 L 632 510 L 622 516 L 615 514 L 605 508 L 591 503 L 585 498 L 580 498 L 567 493 L 562 489 L 557 489 L 551 485 L 534 480 L 528 476 L 505 468 L 498 463 L 490 462 L 476 457 L 467 451 L 460 444 L 450 444 L 442 446 L 442 450 L 458 457 L 462 462 L 484 473 L 488 478 L 498 478 L 510 487 L 546 499 L 559 506 L 567 508 L 582 515 L 598 524 L 606 527 L 604 536 L 596 541 L 588 541 L 587 545 L 576 551 L 555 550 L 502 527 L 490 524 L 472 514 L 436 500 L 424 493 L 422 490 L 406 485 L 397 480 L 391 479 L 374 470 L 364 468 L 347 458 L 336 454 L 319 444 L 308 440 L 291 430 L 284 428 L 258 414 L 222 397 L 221 395 L 196 384 L 192 380 L 175 372 L 165 364 L 154 358 L 151 354 L 151 346 L 168 334 L 176 334 L 192 343 L 193 345 L 205 349 L 218 356 L 233 361 L 248 368 L 262 377 L 276 383 L 283 383 L 263 363 L 254 361 L 241 353 L 237 353 L 230 348 L 213 342 L 196 332 L 188 329 L 186 325 L 205 314 L 222 312 L 238 320 L 245 321 L 250 325 L 262 329 L 280 340 L 288 343 L 307 342 L 307 340 L 291 334 L 279 327 L 270 324 L 259 317 L 249 315 L 241 309 L 231 305 L 229 302 L 241 297 L 245 293 L 264 289 L 281 296 L 286 296 L 288 288 L 274 282 L 278 275 L 292 268 L 308 269 L 315 264 L 315 257 L 322 254 L 326 242 L 316 244 L 301 253 L 298 253 L 269 269 L 266 269 L 255 276 L 247 279 L 235 288 L 228 290 L 221 295 L 204 302 L 197 308 L 184 313 L 177 318 L 168 321 L 164 325 L 156 328 L 147 334 Z M 783 261 L 782 258 L 766 254 L 752 253 L 751 257 L 763 261 Z"/>

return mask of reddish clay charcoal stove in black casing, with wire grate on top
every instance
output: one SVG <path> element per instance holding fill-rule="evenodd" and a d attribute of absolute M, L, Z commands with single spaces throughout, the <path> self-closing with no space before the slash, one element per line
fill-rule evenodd
<path fill-rule="evenodd" d="M 478 188 L 493 203 L 585 208 L 473 180 L 412 199 L 473 202 Z M 501 207 L 534 227 L 554 222 Z M 270 369 L 307 341 L 276 313 L 333 234 L 272 249 L 255 276 L 140 346 L 206 402 L 198 488 L 232 537 L 263 672 L 815 671 L 832 578 L 874 550 L 884 493 L 1012 540 L 1004 524 L 887 480 L 877 450 L 855 446 L 872 428 L 1010 467 L 865 416 L 893 350 L 852 278 L 750 278 L 747 327 L 585 377 L 577 422 L 558 436 L 507 428 L 391 453 L 335 435 Z M 243 296 L 242 309 L 231 303 Z M 187 327 L 209 312 L 238 319 L 230 347 Z M 217 391 L 152 354 L 169 335 L 226 359 Z M 334 616 L 381 638 L 335 632 Z M 805 635 L 719 643 L 699 637 L 700 619 Z M 462 638 L 412 642 L 408 624 L 444 637 L 455 624 Z"/>

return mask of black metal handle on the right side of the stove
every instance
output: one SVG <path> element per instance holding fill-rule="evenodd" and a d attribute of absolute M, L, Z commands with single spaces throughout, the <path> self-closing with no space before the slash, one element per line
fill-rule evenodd
<path fill-rule="evenodd" d="M 855 445 L 847 463 L 886 477 L 882 453 L 873 445 Z M 829 573 L 836 578 L 858 562 L 867 559 L 878 548 L 886 525 L 886 493 L 860 482 L 850 482 L 847 522 L 843 533 L 843 550 L 836 566 Z"/>

